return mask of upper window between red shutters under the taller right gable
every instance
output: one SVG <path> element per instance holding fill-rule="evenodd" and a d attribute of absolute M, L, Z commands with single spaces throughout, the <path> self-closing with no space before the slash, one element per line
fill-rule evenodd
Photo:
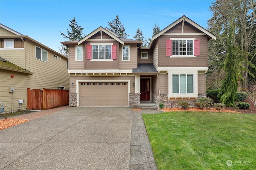
<path fill-rule="evenodd" d="M 172 55 L 193 55 L 193 40 L 172 40 Z"/>

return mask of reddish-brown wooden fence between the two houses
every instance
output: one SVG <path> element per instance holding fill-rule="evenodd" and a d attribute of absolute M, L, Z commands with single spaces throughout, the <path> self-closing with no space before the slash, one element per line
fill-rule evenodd
<path fill-rule="evenodd" d="M 27 109 L 45 110 L 69 104 L 69 90 L 32 89 L 27 90 Z"/>

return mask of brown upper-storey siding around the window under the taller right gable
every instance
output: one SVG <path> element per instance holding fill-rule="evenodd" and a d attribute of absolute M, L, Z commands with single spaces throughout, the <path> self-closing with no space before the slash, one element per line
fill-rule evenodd
<path fill-rule="evenodd" d="M 177 57 L 166 56 L 166 39 L 170 38 L 196 38 L 200 39 L 200 56 L 196 57 Z M 159 67 L 207 67 L 206 35 L 162 35 L 159 38 Z"/>

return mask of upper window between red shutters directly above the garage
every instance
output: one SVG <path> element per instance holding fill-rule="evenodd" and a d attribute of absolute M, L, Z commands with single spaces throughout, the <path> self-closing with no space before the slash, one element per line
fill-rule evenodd
<path fill-rule="evenodd" d="M 111 45 L 92 45 L 92 59 L 111 59 Z"/>

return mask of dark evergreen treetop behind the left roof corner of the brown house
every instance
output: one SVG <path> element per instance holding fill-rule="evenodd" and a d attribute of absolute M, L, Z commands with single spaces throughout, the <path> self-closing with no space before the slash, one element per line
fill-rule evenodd
<path fill-rule="evenodd" d="M 70 20 L 69 20 L 70 21 Z M 78 40 L 78 39 L 82 39 L 82 35 L 83 35 L 83 29 L 80 25 L 77 25 L 76 23 L 76 18 L 74 17 L 71 21 L 70 24 L 68 24 L 71 28 L 71 30 L 69 31 L 67 29 L 68 35 L 65 35 L 64 33 L 62 33 L 60 31 L 60 34 L 64 37 L 69 39 L 70 41 L 73 40 Z M 85 34 L 84 34 L 85 36 Z"/>

